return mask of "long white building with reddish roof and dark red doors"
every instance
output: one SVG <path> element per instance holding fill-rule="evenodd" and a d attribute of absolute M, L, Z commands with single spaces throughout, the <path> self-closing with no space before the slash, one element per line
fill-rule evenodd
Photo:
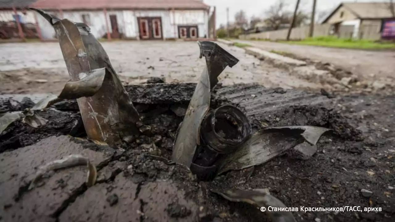
<path fill-rule="evenodd" d="M 215 10 L 203 0 L 1 0 L 0 22 L 16 18 L 17 8 L 21 23 L 34 23 L 41 38 L 54 39 L 51 25 L 28 7 L 86 23 L 96 38 L 201 39 L 215 33 Z"/>

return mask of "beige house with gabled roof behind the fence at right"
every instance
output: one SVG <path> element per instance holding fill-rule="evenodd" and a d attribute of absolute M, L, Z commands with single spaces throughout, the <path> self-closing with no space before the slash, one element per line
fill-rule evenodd
<path fill-rule="evenodd" d="M 395 37 L 395 30 L 391 29 L 393 27 L 391 24 L 395 23 L 394 11 L 394 5 L 389 1 L 343 2 L 324 19 L 322 24 L 333 24 L 331 34 L 348 32 L 352 38 L 361 38 L 359 35 L 368 32 L 385 35 L 388 32 L 384 33 L 385 30 L 390 30 L 389 35 L 394 32 Z"/>

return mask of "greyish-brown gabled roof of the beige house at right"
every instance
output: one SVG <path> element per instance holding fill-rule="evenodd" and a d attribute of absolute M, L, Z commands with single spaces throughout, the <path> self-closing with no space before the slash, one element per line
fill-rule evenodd
<path fill-rule="evenodd" d="M 389 2 L 344 2 L 343 5 L 359 18 L 381 19 L 393 16 L 390 7 L 394 8 L 394 4 Z"/>

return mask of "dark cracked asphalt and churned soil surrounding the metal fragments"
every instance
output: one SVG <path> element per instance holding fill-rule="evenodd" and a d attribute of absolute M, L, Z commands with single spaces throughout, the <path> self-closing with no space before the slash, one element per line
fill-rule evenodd
<path fill-rule="evenodd" d="M 394 220 L 394 96 L 328 98 L 260 85 L 218 85 L 212 108 L 237 105 L 254 130 L 313 125 L 331 128 L 333 134 L 320 139 L 318 152 L 308 160 L 295 160 L 286 153 L 261 166 L 199 181 L 184 167 L 164 159 L 171 154 L 175 131 L 195 86 L 127 86 L 144 124 L 152 130 L 120 147 L 60 136 L 84 137 L 73 101 L 41 113 L 50 121 L 38 129 L 13 123 L 0 136 L 0 221 L 266 220 L 259 209 L 231 203 L 210 192 L 229 188 L 268 188 L 288 207 L 382 207 L 374 213 L 297 212 L 293 214 L 297 221 Z M 15 111 L 31 103 L 28 99 L 23 103 L 2 100 L 1 107 L 2 111 Z M 56 171 L 39 187 L 27 190 L 35 167 L 73 152 L 94 160 L 98 184 L 87 188 L 85 168 L 74 167 Z"/>

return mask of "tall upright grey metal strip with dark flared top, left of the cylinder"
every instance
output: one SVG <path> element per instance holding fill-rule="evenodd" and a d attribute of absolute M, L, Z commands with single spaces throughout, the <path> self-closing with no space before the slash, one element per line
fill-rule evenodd
<path fill-rule="evenodd" d="M 206 59 L 198 85 L 191 98 L 184 120 L 179 127 L 173 147 L 172 160 L 191 166 L 196 146 L 200 141 L 200 125 L 209 111 L 211 89 L 218 83 L 218 75 L 226 68 L 233 67 L 239 60 L 211 41 L 198 41 L 200 58 Z"/>

